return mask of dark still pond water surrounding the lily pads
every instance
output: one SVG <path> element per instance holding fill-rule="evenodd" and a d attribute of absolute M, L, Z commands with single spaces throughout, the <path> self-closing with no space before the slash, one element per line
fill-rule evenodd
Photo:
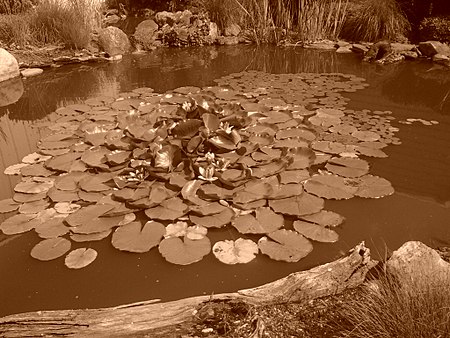
<path fill-rule="evenodd" d="M 361 241 L 377 258 L 408 240 L 450 246 L 450 71 L 425 61 L 378 66 L 361 63 L 353 54 L 231 46 L 159 49 L 119 63 L 47 70 L 23 81 L 18 102 L 0 107 L 0 171 L 36 150 L 41 132 L 33 124 L 58 107 L 99 95 L 117 97 L 138 87 L 163 93 L 181 86 L 211 86 L 215 79 L 248 70 L 365 78 L 369 87 L 343 95 L 349 109 L 389 110 L 395 117 L 391 124 L 399 128 L 396 137 L 401 144 L 385 148 L 387 158 L 368 159 L 371 174 L 389 180 L 395 193 L 380 199 L 327 200 L 327 210 L 346 218 L 336 229 L 340 239 L 314 243 L 312 253 L 298 263 L 259 254 L 249 264 L 228 266 L 210 254 L 199 263 L 179 266 L 167 263 L 155 249 L 124 253 L 105 239 L 89 243 L 99 253 L 94 263 L 69 270 L 63 258 L 40 262 L 30 256 L 40 241 L 34 232 L 0 235 L 0 316 L 236 291 L 329 262 Z M 407 119 L 417 120 L 405 124 Z M 425 125 L 419 119 L 438 123 Z M 11 197 L 18 181 L 1 175 L 0 199 Z M 210 239 L 236 236 L 225 229 Z"/>

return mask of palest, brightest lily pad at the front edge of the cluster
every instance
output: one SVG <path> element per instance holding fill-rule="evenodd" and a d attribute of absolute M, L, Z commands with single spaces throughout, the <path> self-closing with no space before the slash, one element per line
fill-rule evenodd
<path fill-rule="evenodd" d="M 258 245 L 250 239 L 219 241 L 213 246 L 213 254 L 225 264 L 249 263 L 258 254 Z"/>

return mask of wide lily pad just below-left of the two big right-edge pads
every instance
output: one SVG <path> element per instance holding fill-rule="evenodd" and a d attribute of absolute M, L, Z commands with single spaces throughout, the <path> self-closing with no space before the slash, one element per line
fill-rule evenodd
<path fill-rule="evenodd" d="M 269 206 L 277 213 L 302 216 L 319 212 L 323 209 L 324 200 L 306 192 L 294 197 L 270 200 Z"/>

